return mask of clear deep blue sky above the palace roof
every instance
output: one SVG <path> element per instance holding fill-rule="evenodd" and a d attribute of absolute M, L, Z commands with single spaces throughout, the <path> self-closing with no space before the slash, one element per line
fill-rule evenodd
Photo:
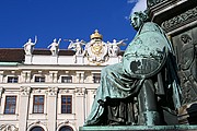
<path fill-rule="evenodd" d="M 54 38 L 90 40 L 95 31 L 104 41 L 134 38 L 128 16 L 140 0 L 0 0 L 0 48 L 22 48 L 28 38 L 47 48 Z M 68 43 L 61 40 L 60 48 Z"/>

